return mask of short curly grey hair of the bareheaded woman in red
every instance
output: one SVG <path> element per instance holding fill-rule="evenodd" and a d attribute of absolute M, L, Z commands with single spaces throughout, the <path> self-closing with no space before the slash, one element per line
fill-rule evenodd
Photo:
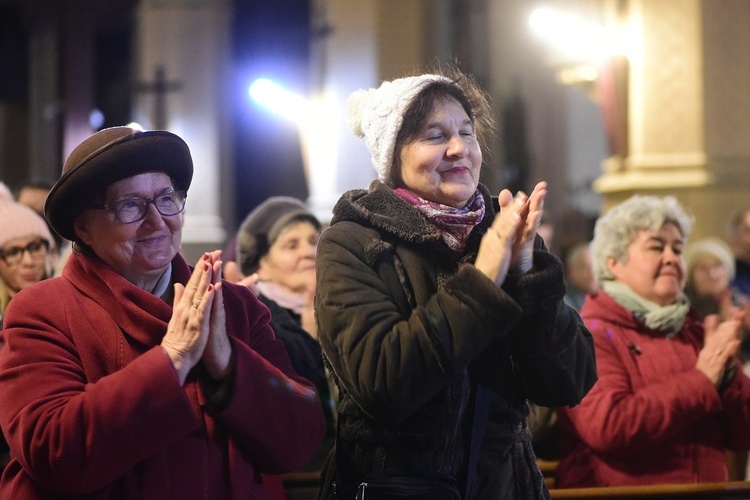
<path fill-rule="evenodd" d="M 693 228 L 688 215 L 674 196 L 634 195 L 599 217 L 594 226 L 591 255 L 598 281 L 614 279 L 607 259 L 627 261 L 627 248 L 642 229 L 658 231 L 667 222 L 677 226 L 687 240 Z"/>

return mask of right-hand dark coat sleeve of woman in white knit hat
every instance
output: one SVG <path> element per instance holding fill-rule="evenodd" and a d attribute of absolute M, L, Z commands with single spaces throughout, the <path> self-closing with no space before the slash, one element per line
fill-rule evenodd
<path fill-rule="evenodd" d="M 539 405 L 577 405 L 597 380 L 594 341 L 563 300 L 559 259 L 538 249 L 534 269 L 522 277 L 510 276 L 504 284 L 523 311 L 509 334 L 518 382 Z"/>

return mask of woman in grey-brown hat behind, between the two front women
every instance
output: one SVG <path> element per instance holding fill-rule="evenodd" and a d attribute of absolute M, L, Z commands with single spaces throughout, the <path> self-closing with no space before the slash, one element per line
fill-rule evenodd
<path fill-rule="evenodd" d="M 323 466 L 335 430 L 334 398 L 323 366 L 313 309 L 315 254 L 321 227 L 300 200 L 272 196 L 248 214 L 236 242 L 237 279 L 251 286 L 268 306 L 271 327 L 284 343 L 292 367 L 315 384 L 323 403 L 326 437 L 303 468 L 315 471 Z"/>

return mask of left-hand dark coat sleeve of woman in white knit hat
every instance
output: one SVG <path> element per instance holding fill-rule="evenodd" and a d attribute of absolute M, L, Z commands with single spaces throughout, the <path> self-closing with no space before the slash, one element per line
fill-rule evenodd
<path fill-rule="evenodd" d="M 348 222 L 323 232 L 316 313 L 323 350 L 346 391 L 371 417 L 399 422 L 506 335 L 520 310 L 470 265 L 423 305 L 405 309 L 398 270 L 388 248 L 372 248 L 378 242 L 375 231 Z"/>

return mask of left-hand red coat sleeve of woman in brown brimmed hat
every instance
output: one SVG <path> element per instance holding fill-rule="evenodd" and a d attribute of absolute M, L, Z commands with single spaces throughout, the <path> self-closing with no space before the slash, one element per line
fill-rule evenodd
<path fill-rule="evenodd" d="M 60 493 L 90 492 L 199 429 L 160 347 L 91 380 L 86 369 L 99 367 L 84 366 L 78 351 L 106 348 L 96 332 L 117 325 L 104 316 L 92 324 L 76 311 L 74 327 L 89 329 L 93 343 L 99 341 L 76 345 L 68 334 L 68 302 L 56 294 L 35 295 L 37 290 L 10 304 L 0 350 L 0 423 L 12 455 L 36 481 Z"/>

